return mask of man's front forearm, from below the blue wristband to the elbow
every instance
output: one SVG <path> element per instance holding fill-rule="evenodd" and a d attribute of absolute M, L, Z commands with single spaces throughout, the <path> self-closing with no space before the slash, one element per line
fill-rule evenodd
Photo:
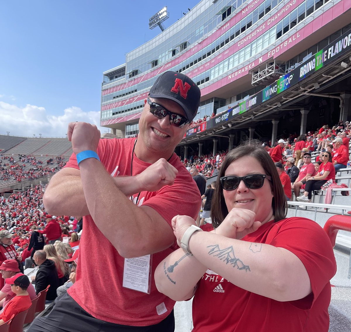
<path fill-rule="evenodd" d="M 166 245 L 165 241 L 159 238 L 162 234 L 158 233 L 161 232 L 159 227 L 163 226 L 166 232 L 171 234 L 171 227 L 165 222 L 156 226 L 155 220 L 152 220 L 143 208 L 135 206 L 117 187 L 98 160 L 89 158 L 82 161 L 80 172 L 90 215 L 102 234 L 122 256 L 150 254 L 164 250 L 172 244 L 172 240 L 168 243 L 167 237 Z M 142 191 L 140 188 L 137 190 Z M 168 233 L 163 236 L 168 236 Z"/>

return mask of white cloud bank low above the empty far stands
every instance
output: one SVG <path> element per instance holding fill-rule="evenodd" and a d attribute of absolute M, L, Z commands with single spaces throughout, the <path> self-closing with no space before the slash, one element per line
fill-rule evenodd
<path fill-rule="evenodd" d="M 69 122 L 84 121 L 95 124 L 104 134 L 107 128 L 100 127 L 100 112 L 84 112 L 79 107 L 66 108 L 62 115 L 48 115 L 44 107 L 27 104 L 20 108 L 0 101 L 0 134 L 18 136 L 66 137 Z"/>

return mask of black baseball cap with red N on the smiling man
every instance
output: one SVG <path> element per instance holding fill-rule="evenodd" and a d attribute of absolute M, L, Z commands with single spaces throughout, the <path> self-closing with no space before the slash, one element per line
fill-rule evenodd
<path fill-rule="evenodd" d="M 183 108 L 188 121 L 192 121 L 199 108 L 201 92 L 186 75 L 166 71 L 157 78 L 150 89 L 149 96 L 173 100 Z"/>

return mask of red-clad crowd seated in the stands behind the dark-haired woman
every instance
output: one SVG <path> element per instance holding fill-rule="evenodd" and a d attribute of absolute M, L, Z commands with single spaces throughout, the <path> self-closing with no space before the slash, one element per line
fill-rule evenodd
<path fill-rule="evenodd" d="M 273 146 L 271 141 L 265 141 L 263 147 L 276 164 L 286 199 L 292 199 L 293 191 L 298 201 L 311 201 L 312 191 L 327 189 L 330 185 L 337 187 L 336 172 L 350 166 L 351 125 L 349 121 L 344 124 L 340 120 L 334 126 L 326 124 L 316 131 L 296 136 L 289 134 L 286 140 L 277 138 Z M 313 151 L 319 152 L 314 163 L 311 162 Z M 188 171 L 196 167 L 208 178 L 218 174 L 227 153 L 228 150 L 219 151 L 215 156 L 195 153 L 182 162 Z M 348 195 L 348 192 L 342 194 Z"/>

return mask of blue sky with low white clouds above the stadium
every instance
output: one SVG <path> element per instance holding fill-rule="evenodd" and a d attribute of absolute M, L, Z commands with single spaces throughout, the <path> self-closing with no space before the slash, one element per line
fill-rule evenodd
<path fill-rule="evenodd" d="M 200 0 L 15 0 L 0 3 L 0 134 L 65 136 L 69 121 L 99 124 L 102 72 Z M 106 131 L 102 129 L 102 132 Z"/>

